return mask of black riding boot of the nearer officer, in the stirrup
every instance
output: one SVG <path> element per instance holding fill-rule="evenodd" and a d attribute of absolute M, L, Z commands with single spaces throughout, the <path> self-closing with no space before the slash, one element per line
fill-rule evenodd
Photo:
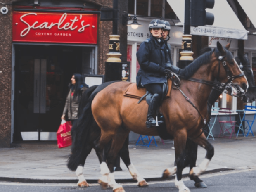
<path fill-rule="evenodd" d="M 149 103 L 149 109 L 147 111 L 147 128 L 156 126 L 156 120 L 154 119 L 154 114 L 156 113 L 156 109 L 159 105 L 160 97 L 158 94 L 154 94 Z"/>

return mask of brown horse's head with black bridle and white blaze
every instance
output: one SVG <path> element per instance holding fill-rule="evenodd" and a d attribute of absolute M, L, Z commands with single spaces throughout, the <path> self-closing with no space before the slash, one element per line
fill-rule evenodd
<path fill-rule="evenodd" d="M 230 43 L 224 48 L 217 42 L 213 62 L 215 67 L 214 76 L 218 81 L 230 85 L 239 92 L 246 92 L 248 88 L 247 78 L 242 73 L 232 53 L 228 50 Z"/>

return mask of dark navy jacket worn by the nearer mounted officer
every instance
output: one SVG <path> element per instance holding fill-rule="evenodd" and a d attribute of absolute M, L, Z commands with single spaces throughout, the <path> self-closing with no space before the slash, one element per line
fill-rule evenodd
<path fill-rule="evenodd" d="M 137 60 L 140 64 L 140 70 L 137 73 L 137 86 L 149 83 L 165 83 L 164 41 L 160 42 L 151 36 L 145 40 L 137 51 Z"/>

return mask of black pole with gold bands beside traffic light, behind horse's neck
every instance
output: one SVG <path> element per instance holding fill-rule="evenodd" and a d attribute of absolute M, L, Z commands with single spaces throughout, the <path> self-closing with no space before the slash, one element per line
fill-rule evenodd
<path fill-rule="evenodd" d="M 190 0 L 185 0 L 185 17 L 182 37 L 182 52 L 180 52 L 179 68 L 183 69 L 194 59 L 192 57 L 192 36 L 190 35 Z"/>

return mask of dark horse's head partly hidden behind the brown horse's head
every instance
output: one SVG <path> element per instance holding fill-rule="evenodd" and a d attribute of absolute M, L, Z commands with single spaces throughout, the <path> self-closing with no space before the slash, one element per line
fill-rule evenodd
<path fill-rule="evenodd" d="M 249 88 L 245 94 L 242 94 L 243 102 L 253 102 L 256 100 L 256 87 L 254 82 L 254 74 L 251 69 L 250 60 L 247 54 L 242 55 L 238 53 L 238 57 L 235 57 L 235 60 L 240 64 L 240 68 L 244 71 L 244 75 L 247 78 Z"/>

